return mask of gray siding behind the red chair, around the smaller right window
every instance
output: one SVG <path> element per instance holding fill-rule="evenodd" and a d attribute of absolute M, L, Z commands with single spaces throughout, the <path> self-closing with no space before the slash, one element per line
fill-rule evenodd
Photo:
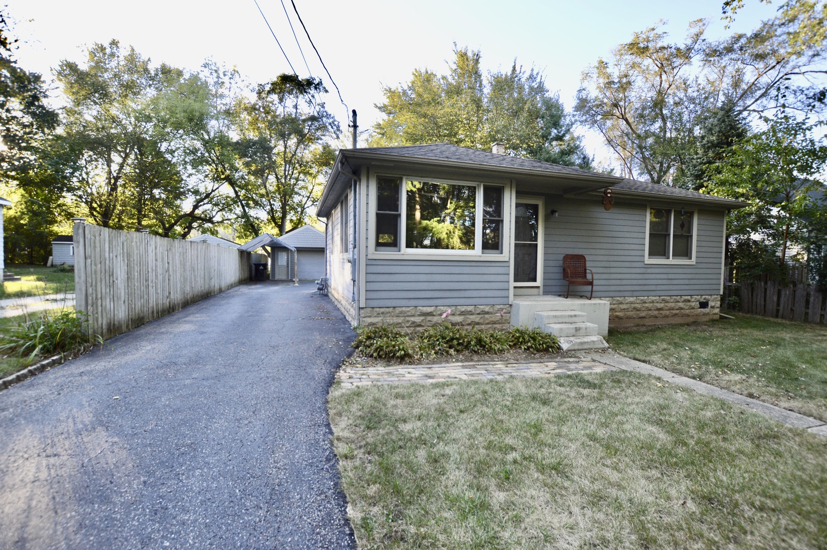
<path fill-rule="evenodd" d="M 653 203 L 653 206 L 656 203 Z M 668 201 L 657 206 L 670 206 Z M 595 273 L 595 298 L 621 296 L 676 296 L 719 294 L 721 257 L 724 250 L 724 211 L 696 210 L 695 265 L 645 263 L 646 216 L 644 203 L 615 201 L 608 212 L 598 199 L 590 201 L 546 198 L 543 294 L 566 294 L 562 256 L 584 254 Z M 681 208 L 672 203 L 671 208 Z M 586 287 L 572 287 L 578 294 Z"/>

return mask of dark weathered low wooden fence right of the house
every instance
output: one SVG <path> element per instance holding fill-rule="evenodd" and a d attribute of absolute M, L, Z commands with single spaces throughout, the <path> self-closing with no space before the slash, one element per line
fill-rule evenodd
<path fill-rule="evenodd" d="M 827 323 L 825 294 L 813 285 L 780 285 L 777 281 L 756 281 L 741 285 L 741 313 L 765 317 Z"/>

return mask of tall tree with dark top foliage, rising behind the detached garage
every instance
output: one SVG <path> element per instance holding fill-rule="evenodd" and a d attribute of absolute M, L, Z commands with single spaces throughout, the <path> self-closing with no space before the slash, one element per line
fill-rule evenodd
<path fill-rule="evenodd" d="M 280 74 L 238 104 L 247 194 L 280 234 L 305 223 L 335 158 L 328 141 L 341 130 L 320 99 L 325 91 L 319 79 Z"/>

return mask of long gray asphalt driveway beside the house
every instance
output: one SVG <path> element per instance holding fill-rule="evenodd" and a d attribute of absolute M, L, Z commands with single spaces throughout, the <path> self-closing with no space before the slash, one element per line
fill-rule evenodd
<path fill-rule="evenodd" d="M 0 392 L 0 548 L 354 548 L 325 399 L 352 332 L 242 285 Z"/>

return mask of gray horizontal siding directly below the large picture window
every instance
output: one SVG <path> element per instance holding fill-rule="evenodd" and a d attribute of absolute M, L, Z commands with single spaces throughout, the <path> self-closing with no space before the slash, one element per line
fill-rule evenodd
<path fill-rule="evenodd" d="M 508 304 L 509 265 L 505 261 L 368 259 L 365 306 Z"/>

